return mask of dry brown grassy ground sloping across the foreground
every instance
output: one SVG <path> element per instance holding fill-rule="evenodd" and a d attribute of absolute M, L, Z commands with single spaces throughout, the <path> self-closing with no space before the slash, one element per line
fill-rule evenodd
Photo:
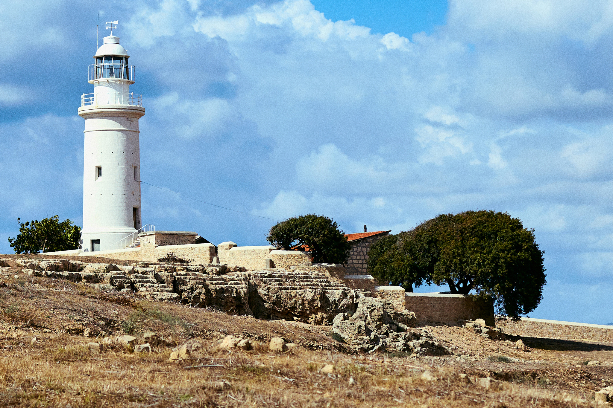
<path fill-rule="evenodd" d="M 613 362 L 613 344 L 522 338 L 522 351 L 518 337 L 425 329 L 454 354 L 355 354 L 329 326 L 141 300 L 12 268 L 0 275 L 0 407 L 588 407 L 613 385 L 613 366 L 603 365 Z M 87 347 L 150 330 L 163 338 L 151 353 Z M 220 349 L 229 334 L 256 347 Z M 270 352 L 273 336 L 299 347 Z M 191 338 L 204 346 L 170 362 L 172 348 Z"/>

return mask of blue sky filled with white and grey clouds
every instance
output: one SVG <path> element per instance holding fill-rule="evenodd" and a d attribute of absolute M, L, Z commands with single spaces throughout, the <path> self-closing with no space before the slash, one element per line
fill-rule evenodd
<path fill-rule="evenodd" d="M 143 185 L 143 223 L 261 245 L 303 213 L 506 211 L 545 251 L 530 316 L 613 322 L 612 1 L 4 2 L 0 253 L 17 217 L 81 222 L 98 12 L 137 66 L 142 180 L 178 193 Z"/>

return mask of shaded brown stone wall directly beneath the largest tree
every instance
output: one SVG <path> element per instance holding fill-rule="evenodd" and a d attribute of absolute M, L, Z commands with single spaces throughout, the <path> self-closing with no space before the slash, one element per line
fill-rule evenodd
<path fill-rule="evenodd" d="M 485 324 L 495 325 L 493 302 L 470 295 L 406 293 L 405 305 L 406 310 L 415 312 L 417 324 L 455 325 L 462 320 L 484 319 Z"/>

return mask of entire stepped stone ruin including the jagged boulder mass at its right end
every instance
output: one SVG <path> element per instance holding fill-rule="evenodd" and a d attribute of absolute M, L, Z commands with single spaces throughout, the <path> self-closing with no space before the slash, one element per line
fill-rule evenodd
<path fill-rule="evenodd" d="M 372 297 L 372 291 L 352 289 L 333 273 L 326 273 L 338 265 L 248 271 L 224 264 L 136 262 L 120 266 L 67 259 L 15 262 L 28 275 L 62 278 L 101 291 L 129 292 L 143 299 L 213 307 L 258 319 L 332 324 L 338 339 L 356 351 L 449 354 L 426 330 L 414 328 L 413 312 L 389 307 Z"/>

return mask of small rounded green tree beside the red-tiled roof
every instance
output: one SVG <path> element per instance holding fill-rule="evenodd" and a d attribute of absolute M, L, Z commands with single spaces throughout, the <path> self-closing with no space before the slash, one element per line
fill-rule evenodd
<path fill-rule="evenodd" d="M 266 240 L 277 249 L 290 250 L 306 245 L 313 262 L 343 264 L 351 245 L 338 224 L 323 215 L 300 215 L 270 228 Z"/>

